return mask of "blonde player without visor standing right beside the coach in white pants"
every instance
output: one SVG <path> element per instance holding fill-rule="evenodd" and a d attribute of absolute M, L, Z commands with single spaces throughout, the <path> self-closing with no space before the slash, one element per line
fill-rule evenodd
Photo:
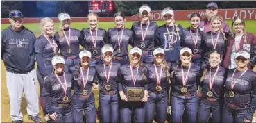
<path fill-rule="evenodd" d="M 40 85 L 40 105 L 43 109 L 44 115 L 46 110 L 44 108 L 44 97 L 42 97 L 42 90 L 44 87 L 44 79 L 53 72 L 51 65 L 51 58 L 58 53 L 58 45 L 53 39 L 54 22 L 52 19 L 45 17 L 41 19 L 42 35 L 35 40 L 35 57 L 37 60 L 37 79 Z M 45 117 L 46 119 L 46 117 Z"/>

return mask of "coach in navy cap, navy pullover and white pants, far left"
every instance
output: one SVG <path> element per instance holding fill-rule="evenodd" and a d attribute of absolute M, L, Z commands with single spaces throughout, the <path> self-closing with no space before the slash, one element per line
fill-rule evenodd
<path fill-rule="evenodd" d="M 19 10 L 9 13 L 11 26 L 1 31 L 1 59 L 6 66 L 6 84 L 10 97 L 12 122 L 22 122 L 22 94 L 28 102 L 28 116 L 34 122 L 42 122 L 39 114 L 37 85 L 35 81 L 35 35 L 22 25 Z"/>

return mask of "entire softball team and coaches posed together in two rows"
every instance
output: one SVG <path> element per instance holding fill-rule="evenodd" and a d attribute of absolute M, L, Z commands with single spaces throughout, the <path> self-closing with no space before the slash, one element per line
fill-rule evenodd
<path fill-rule="evenodd" d="M 107 31 L 97 13 L 87 15 L 89 28 L 81 31 L 71 28 L 68 13 L 60 13 L 61 28 L 55 31 L 53 19 L 44 17 L 36 38 L 23 25 L 22 12 L 10 11 L 1 59 L 12 122 L 23 121 L 23 93 L 33 122 L 252 122 L 256 37 L 246 31 L 244 17 L 235 16 L 229 27 L 217 13 L 210 2 L 205 20 L 192 13 L 190 26 L 182 27 L 167 7 L 160 26 L 143 4 L 131 28 L 119 11 Z"/>

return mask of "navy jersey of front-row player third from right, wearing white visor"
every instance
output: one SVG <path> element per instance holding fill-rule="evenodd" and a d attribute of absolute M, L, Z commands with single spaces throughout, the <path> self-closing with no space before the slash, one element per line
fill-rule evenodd
<path fill-rule="evenodd" d="M 183 66 L 184 78 L 187 75 L 189 66 Z M 191 63 L 190 72 L 187 77 L 187 83 L 185 86 L 182 84 L 182 71 L 181 64 L 174 64 L 171 67 L 171 72 L 173 71 L 173 78 L 171 80 L 171 92 L 180 93 L 181 88 L 187 88 L 187 93 L 192 94 L 196 92 L 197 85 L 200 79 L 200 66 Z"/>

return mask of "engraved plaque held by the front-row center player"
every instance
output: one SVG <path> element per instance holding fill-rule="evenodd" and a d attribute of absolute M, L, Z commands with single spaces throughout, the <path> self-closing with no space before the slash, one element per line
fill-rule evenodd
<path fill-rule="evenodd" d="M 144 97 L 144 88 L 127 87 L 126 97 L 128 101 L 142 101 L 142 98 Z"/>

